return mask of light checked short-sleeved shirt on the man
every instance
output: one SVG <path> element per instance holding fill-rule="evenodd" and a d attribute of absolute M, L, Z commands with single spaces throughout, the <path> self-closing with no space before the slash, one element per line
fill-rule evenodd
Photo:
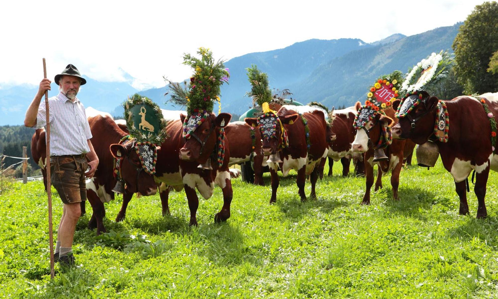
<path fill-rule="evenodd" d="M 92 138 L 85 107 L 78 98 L 74 102 L 62 92 L 48 99 L 50 110 L 50 155 L 82 154 L 90 151 L 87 139 Z M 36 116 L 35 129 L 46 126 L 45 102 Z M 46 130 L 46 128 L 45 128 Z"/>

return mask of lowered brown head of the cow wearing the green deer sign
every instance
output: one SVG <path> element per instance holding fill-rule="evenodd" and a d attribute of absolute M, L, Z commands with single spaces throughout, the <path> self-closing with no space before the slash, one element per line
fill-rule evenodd
<path fill-rule="evenodd" d="M 157 184 L 154 181 L 154 176 L 144 171 L 134 142 L 113 144 L 110 146 L 110 150 L 115 158 L 120 159 L 120 173 L 128 192 L 139 192 L 142 195 L 156 193 Z"/>

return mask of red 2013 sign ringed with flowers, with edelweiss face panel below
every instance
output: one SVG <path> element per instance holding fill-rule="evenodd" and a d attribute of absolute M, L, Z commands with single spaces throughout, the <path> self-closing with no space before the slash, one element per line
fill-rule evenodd
<path fill-rule="evenodd" d="M 365 124 L 373 120 L 377 113 L 385 115 L 382 110 L 388 109 L 391 106 L 392 101 L 404 95 L 404 93 L 399 90 L 402 80 L 403 74 L 400 71 L 394 71 L 389 75 L 383 75 L 377 78 L 375 83 L 369 88 L 365 105 L 363 105 L 356 114 L 353 127 L 357 130 L 361 129 Z"/>

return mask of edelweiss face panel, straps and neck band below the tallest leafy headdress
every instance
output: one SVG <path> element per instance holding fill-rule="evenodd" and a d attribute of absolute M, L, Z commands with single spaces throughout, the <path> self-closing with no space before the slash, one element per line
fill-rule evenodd
<path fill-rule="evenodd" d="M 194 113 L 191 116 L 187 116 L 185 120 L 183 121 L 183 137 L 185 139 L 189 139 L 190 137 L 194 137 L 195 140 L 197 140 L 201 144 L 201 150 L 199 152 L 199 155 L 203 153 L 204 146 L 206 145 L 206 142 L 208 141 L 209 137 L 211 136 L 211 133 L 214 131 L 216 128 L 215 123 L 211 124 L 211 128 L 209 129 L 208 135 L 204 138 L 204 140 L 201 140 L 197 134 L 195 134 L 195 130 L 199 128 L 199 126 L 206 121 L 208 118 L 208 115 L 210 113 L 206 110 L 202 109 L 194 109 Z M 224 124 L 222 124 L 224 126 Z M 223 160 L 225 159 L 225 130 L 222 128 L 218 128 L 218 131 L 216 132 L 216 159 L 218 161 L 218 167 L 221 167 L 223 165 Z"/>

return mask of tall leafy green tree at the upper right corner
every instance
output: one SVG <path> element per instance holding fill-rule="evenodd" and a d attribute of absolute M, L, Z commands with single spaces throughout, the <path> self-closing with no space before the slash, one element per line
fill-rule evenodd
<path fill-rule="evenodd" d="M 458 83 L 467 94 L 498 90 L 498 74 L 487 72 L 491 57 L 498 50 L 497 15 L 496 1 L 476 5 L 453 41 Z"/>

